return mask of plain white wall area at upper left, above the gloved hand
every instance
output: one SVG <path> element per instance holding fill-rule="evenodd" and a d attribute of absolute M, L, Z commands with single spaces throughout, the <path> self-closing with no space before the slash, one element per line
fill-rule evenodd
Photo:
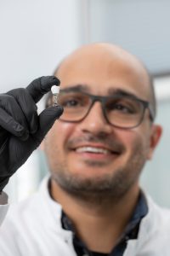
<path fill-rule="evenodd" d="M 0 93 L 53 73 L 82 44 L 78 0 L 0 1 Z"/>

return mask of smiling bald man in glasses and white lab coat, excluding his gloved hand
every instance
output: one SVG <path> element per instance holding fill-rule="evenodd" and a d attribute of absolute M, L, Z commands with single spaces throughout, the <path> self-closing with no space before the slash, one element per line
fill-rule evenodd
<path fill-rule="evenodd" d="M 115 45 L 89 44 L 55 75 L 64 113 L 42 144 L 51 175 L 11 207 L 0 255 L 169 255 L 170 212 L 139 188 L 161 137 L 146 69 Z"/>

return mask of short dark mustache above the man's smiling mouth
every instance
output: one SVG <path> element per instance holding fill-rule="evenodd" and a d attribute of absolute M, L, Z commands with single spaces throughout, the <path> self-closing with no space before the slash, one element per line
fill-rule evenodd
<path fill-rule="evenodd" d="M 111 151 L 116 151 L 118 153 L 122 153 L 125 150 L 124 145 L 118 142 L 115 138 L 94 136 L 92 134 L 83 135 L 81 137 L 72 137 L 67 141 L 67 147 L 77 148 L 83 143 L 101 143 L 106 148 L 110 148 Z"/>

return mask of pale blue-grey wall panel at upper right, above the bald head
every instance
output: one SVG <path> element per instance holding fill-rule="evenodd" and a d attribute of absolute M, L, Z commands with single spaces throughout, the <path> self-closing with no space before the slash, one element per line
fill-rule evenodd
<path fill-rule="evenodd" d="M 170 71 L 169 0 L 89 0 L 90 42 L 121 45 L 151 73 Z"/>

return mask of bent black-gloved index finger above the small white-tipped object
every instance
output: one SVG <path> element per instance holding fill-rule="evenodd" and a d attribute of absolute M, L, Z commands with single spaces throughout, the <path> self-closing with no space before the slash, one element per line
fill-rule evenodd
<path fill-rule="evenodd" d="M 52 85 L 59 85 L 59 79 L 54 76 L 41 77 L 35 79 L 26 87 L 35 103 L 39 102 L 44 94 L 46 94 Z"/>

